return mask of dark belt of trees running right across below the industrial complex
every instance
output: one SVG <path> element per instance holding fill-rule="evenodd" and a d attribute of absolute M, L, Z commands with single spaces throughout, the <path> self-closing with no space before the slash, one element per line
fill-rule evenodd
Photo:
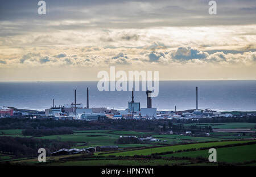
<path fill-rule="evenodd" d="M 212 117 L 201 119 L 99 119 L 95 121 L 85 120 L 55 120 L 55 119 L 0 119 L 0 129 L 53 129 L 72 128 L 84 130 L 97 129 L 137 129 L 154 132 L 166 132 L 168 130 L 184 132 L 211 132 L 210 126 L 184 126 L 189 123 L 256 123 L 256 117 Z"/>

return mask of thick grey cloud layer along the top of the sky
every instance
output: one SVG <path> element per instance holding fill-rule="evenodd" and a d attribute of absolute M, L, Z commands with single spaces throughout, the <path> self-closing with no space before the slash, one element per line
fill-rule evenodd
<path fill-rule="evenodd" d="M 208 1 L 209 2 L 209 1 Z M 36 2 L 3 1 L 1 2 L 0 20 L 27 22 L 39 21 L 36 25 L 24 25 L 28 31 L 36 28 L 44 31 L 43 26 L 58 20 L 86 20 L 88 23 L 55 24 L 52 29 L 83 29 L 85 27 L 103 28 L 139 28 L 156 26 L 198 26 L 213 24 L 255 24 L 255 1 L 218 1 L 216 16 L 208 14 L 208 2 L 196 1 L 49 1 L 47 15 L 36 14 Z M 15 6 L 14 6 L 15 5 Z M 234 13 L 236 12 L 236 13 Z M 232 18 L 230 18 L 230 16 Z M 198 18 L 200 17 L 200 18 Z M 43 23 L 42 23 L 43 22 Z M 41 23 L 41 24 L 40 24 Z M 14 33 L 19 32 L 18 30 Z M 10 31 L 6 30 L 6 34 Z M 131 36 L 124 37 L 133 39 Z M 134 38 L 136 39 L 136 37 Z"/>

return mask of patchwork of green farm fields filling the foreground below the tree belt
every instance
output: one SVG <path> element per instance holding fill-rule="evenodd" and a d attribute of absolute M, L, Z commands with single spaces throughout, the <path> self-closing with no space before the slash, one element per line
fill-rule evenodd
<path fill-rule="evenodd" d="M 187 124 L 190 126 L 191 124 Z M 204 126 L 204 124 L 197 124 Z M 254 130 L 252 123 L 210 124 L 214 128 L 248 128 Z M 30 140 L 52 142 L 72 142 L 70 148 L 118 145 L 117 151 L 93 154 L 47 155 L 47 162 L 38 162 L 34 155 L 14 155 L 0 152 L 2 165 L 256 165 L 255 133 L 212 132 L 210 136 L 188 136 L 163 134 L 138 130 L 73 130 L 73 134 L 55 134 L 50 136 L 24 136 L 22 129 L 0 130 L 1 137 L 23 137 Z M 120 136 L 153 137 L 161 141 L 137 144 L 117 144 Z M 57 144 L 59 145 L 59 144 Z M 63 144 L 61 144 L 63 145 Z M 65 144 L 64 144 L 65 145 Z M 217 162 L 209 162 L 208 150 L 217 150 Z"/>

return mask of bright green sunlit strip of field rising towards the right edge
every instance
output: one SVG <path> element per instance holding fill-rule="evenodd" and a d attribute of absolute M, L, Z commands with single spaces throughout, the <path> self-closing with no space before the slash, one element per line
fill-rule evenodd
<path fill-rule="evenodd" d="M 256 141 L 256 140 L 255 140 Z M 185 150 L 185 149 L 192 149 L 196 148 L 199 149 L 200 147 L 213 147 L 213 146 L 224 146 L 224 145 L 232 145 L 232 144 L 240 144 L 246 143 L 251 141 L 222 141 L 222 142 L 206 142 L 206 143 L 199 143 L 199 144 L 187 144 L 187 145 L 175 145 L 175 146 L 165 146 L 165 147 L 155 147 L 149 149 L 142 149 L 142 150 L 130 150 L 130 151 L 123 151 L 119 153 L 110 153 L 105 155 L 150 155 L 152 153 L 163 153 L 166 151 L 177 151 L 177 150 Z"/>

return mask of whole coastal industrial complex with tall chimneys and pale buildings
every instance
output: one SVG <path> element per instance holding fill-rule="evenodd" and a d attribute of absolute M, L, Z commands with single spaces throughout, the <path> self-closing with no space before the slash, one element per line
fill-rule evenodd
<path fill-rule="evenodd" d="M 56 106 L 52 99 L 52 107 L 45 111 L 33 111 L 26 109 L 14 109 L 12 107 L 0 107 L 0 117 L 30 117 L 30 118 L 54 118 L 59 120 L 79 119 L 79 120 L 98 120 L 101 118 L 109 119 L 200 119 L 204 117 L 232 117 L 231 113 L 221 113 L 211 109 L 199 109 L 198 87 L 196 87 L 196 107 L 192 110 L 177 111 L 158 111 L 152 107 L 152 91 L 146 91 L 147 107 L 141 107 L 141 103 L 134 101 L 134 90 L 131 91 L 131 101 L 124 110 L 108 109 L 106 107 L 89 108 L 89 88 L 86 89 L 86 106 L 77 103 L 76 90 L 74 90 L 74 102 Z"/>

